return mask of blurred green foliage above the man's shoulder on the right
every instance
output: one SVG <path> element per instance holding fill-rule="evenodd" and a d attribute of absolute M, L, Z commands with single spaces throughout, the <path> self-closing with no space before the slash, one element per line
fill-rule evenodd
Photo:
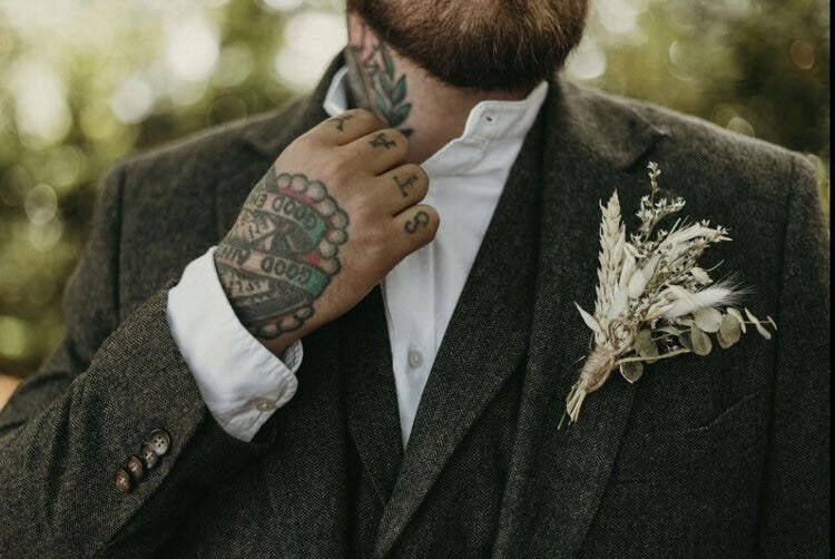
<path fill-rule="evenodd" d="M 817 166 L 828 207 L 829 2 L 598 0 L 569 71 Z"/>

